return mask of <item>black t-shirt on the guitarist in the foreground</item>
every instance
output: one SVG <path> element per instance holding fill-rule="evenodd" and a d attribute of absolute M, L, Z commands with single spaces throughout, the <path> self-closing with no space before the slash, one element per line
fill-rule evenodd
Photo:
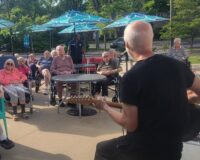
<path fill-rule="evenodd" d="M 154 55 L 138 61 L 122 78 L 121 102 L 138 107 L 138 143 L 180 142 L 189 121 L 186 90 L 194 74 L 177 60 Z"/>

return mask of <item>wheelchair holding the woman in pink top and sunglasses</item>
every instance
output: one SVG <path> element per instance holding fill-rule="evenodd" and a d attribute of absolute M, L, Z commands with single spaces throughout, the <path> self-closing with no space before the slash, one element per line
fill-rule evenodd
<path fill-rule="evenodd" d="M 18 67 L 18 62 L 17 62 L 16 57 L 12 55 L 3 55 L 0 57 L 0 69 L 4 68 L 4 63 L 7 59 L 12 59 L 15 63 L 15 66 Z M 29 80 L 25 81 L 24 87 L 28 88 L 28 91 L 29 91 L 29 93 L 25 93 L 25 101 L 26 101 L 26 106 L 29 107 L 29 112 L 32 114 L 33 113 L 33 105 L 32 105 L 33 95 L 32 95 L 32 89 L 31 89 L 31 82 Z M 5 97 L 7 106 L 11 106 L 10 97 L 6 92 L 4 92 L 4 97 Z"/>

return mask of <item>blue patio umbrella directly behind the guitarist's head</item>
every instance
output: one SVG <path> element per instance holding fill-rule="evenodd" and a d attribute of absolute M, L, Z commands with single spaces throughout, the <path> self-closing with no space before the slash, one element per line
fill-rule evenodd
<path fill-rule="evenodd" d="M 157 21 L 165 21 L 168 19 L 159 17 L 159 16 L 152 16 L 152 15 L 146 15 L 146 14 L 133 12 L 133 13 L 109 24 L 105 28 L 123 27 L 123 26 L 127 26 L 129 23 L 131 23 L 133 21 L 138 21 L 138 20 L 145 21 L 145 22 L 157 22 Z"/>

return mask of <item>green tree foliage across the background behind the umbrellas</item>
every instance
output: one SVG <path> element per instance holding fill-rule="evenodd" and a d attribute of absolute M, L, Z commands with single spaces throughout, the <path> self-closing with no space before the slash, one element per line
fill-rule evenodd
<path fill-rule="evenodd" d="M 88 0 L 84 4 L 82 2 L 82 0 L 0 0 L 0 17 L 13 21 L 15 23 L 12 28 L 13 33 L 19 32 L 19 34 L 14 35 L 14 49 L 21 47 L 20 49 L 23 50 L 23 36 L 29 32 L 34 40 L 33 48 L 37 51 L 49 48 L 49 32 L 31 34 L 27 27 L 33 24 L 43 24 L 69 10 L 80 10 L 113 20 L 124 17 L 131 12 L 169 17 L 169 0 Z M 173 0 L 173 2 L 172 37 L 194 39 L 199 36 L 200 1 Z M 107 24 L 98 25 L 104 28 Z M 61 29 L 54 30 L 53 37 L 56 42 L 54 42 L 54 46 L 70 39 L 69 35 L 66 37 L 57 34 Z M 107 38 L 122 36 L 123 29 L 101 30 L 101 39 L 103 39 L 104 34 Z M 9 43 L 9 29 L 1 30 L 0 35 L 2 36 L 0 44 L 4 43 L 4 40 L 6 40 L 5 43 Z M 157 35 L 159 37 L 159 34 Z M 161 35 L 163 39 L 171 37 L 169 23 L 163 27 Z"/>

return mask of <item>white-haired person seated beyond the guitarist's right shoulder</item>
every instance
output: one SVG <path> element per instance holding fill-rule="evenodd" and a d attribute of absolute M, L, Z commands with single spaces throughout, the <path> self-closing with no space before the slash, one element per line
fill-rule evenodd
<path fill-rule="evenodd" d="M 168 55 L 172 58 L 175 58 L 179 61 L 186 63 L 188 58 L 188 53 L 185 52 L 185 49 L 181 46 L 181 39 L 174 39 L 174 46 L 169 49 Z"/>

